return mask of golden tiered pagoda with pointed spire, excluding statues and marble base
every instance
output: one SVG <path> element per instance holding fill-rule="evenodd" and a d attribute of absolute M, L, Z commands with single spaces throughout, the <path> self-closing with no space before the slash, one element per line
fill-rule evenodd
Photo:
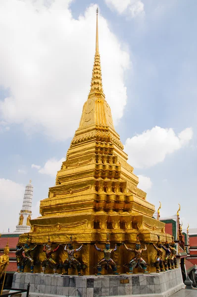
<path fill-rule="evenodd" d="M 55 186 L 49 188 L 49 197 L 41 200 L 42 216 L 30 221 L 31 244 L 47 243 L 48 236 L 53 243 L 65 244 L 72 235 L 74 245 L 87 244 L 79 255 L 87 265 L 85 274 L 89 275 L 94 273 L 98 257 L 91 243 L 102 246 L 107 233 L 111 245 L 135 243 L 138 233 L 142 244 L 157 242 L 157 235 L 161 241 L 166 240 L 165 224 L 152 217 L 154 205 L 137 187 L 139 179 L 127 163 L 128 156 L 123 149 L 102 88 L 97 11 L 90 93 L 66 160 L 57 172 Z M 20 236 L 21 243 L 26 240 L 27 234 Z M 63 258 L 63 250 L 60 253 Z M 126 253 L 123 247 L 114 253 L 121 272 Z M 153 254 L 153 248 L 148 246 L 145 255 L 148 263 L 155 257 Z"/>

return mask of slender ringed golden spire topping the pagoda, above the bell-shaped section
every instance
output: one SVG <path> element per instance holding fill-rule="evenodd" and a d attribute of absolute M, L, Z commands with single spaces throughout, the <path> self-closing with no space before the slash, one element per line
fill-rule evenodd
<path fill-rule="evenodd" d="M 93 67 L 93 76 L 91 81 L 91 89 L 89 98 L 92 94 L 103 93 L 102 89 L 102 75 L 100 68 L 100 55 L 99 55 L 99 30 L 98 30 L 98 8 L 97 8 L 97 28 L 96 28 L 96 53 L 95 53 L 95 62 Z M 103 94 L 104 96 L 104 94 Z"/>

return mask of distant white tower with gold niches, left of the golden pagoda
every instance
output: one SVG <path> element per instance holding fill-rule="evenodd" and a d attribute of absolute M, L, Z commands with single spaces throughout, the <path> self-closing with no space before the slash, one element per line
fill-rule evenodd
<path fill-rule="evenodd" d="M 14 231 L 18 234 L 29 232 L 31 229 L 30 220 L 32 215 L 32 197 L 34 187 L 31 184 L 31 180 L 29 182 L 30 183 L 25 188 L 23 206 L 19 213 L 18 225 L 16 226 L 16 230 Z"/>

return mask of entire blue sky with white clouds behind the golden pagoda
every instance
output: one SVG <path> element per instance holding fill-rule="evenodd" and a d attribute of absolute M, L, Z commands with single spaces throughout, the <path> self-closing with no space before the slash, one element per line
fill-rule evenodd
<path fill-rule="evenodd" d="M 96 8 L 115 129 L 161 217 L 196 223 L 197 1 L 0 1 L 0 232 L 48 197 L 87 100 Z"/>

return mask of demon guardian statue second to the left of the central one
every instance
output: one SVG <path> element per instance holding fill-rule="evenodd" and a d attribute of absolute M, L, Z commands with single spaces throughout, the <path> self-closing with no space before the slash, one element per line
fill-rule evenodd
<path fill-rule="evenodd" d="M 55 249 L 51 248 L 51 242 L 50 242 L 50 238 L 49 238 L 48 239 L 48 244 L 45 245 L 44 249 L 43 249 L 43 251 L 45 251 L 46 258 L 42 262 L 42 273 L 45 273 L 46 267 L 49 266 L 50 268 L 53 269 L 53 274 L 56 274 L 57 263 L 55 262 L 55 260 L 52 259 L 52 253 L 57 251 L 58 248 L 59 248 L 59 246 L 57 246 Z"/>

